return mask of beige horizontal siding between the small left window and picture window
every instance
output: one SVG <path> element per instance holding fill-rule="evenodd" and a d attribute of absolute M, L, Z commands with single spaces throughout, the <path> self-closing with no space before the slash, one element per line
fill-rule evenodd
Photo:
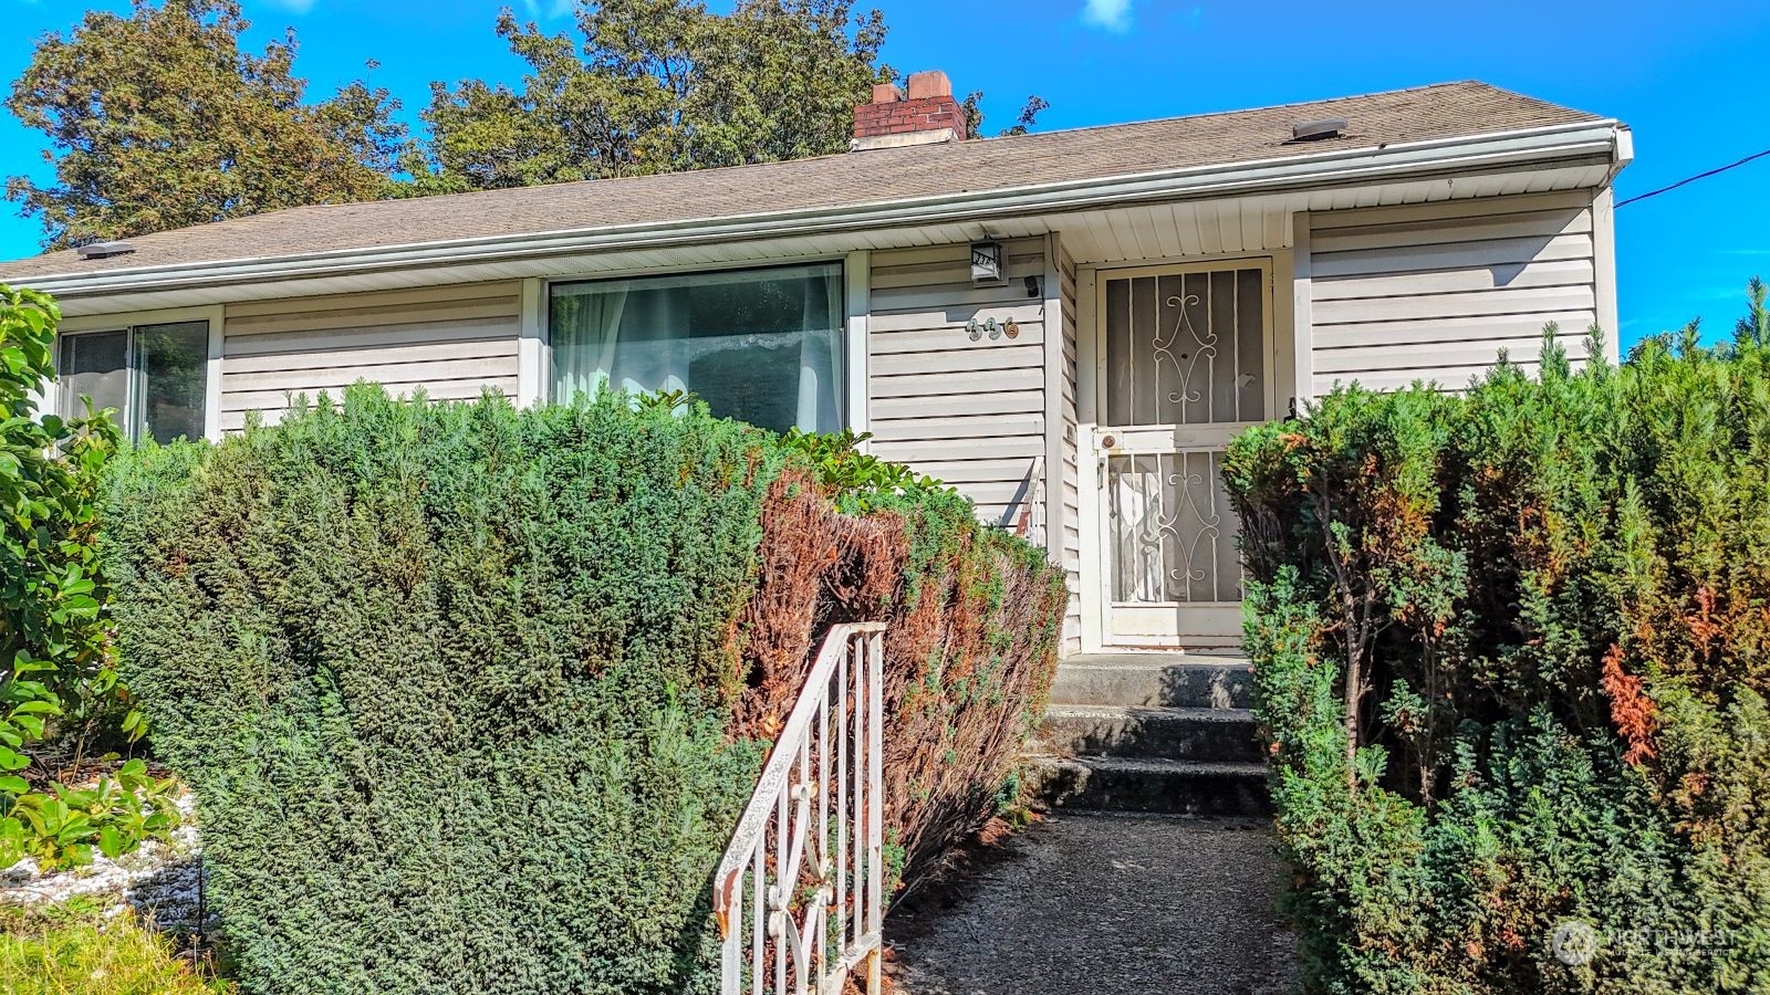
<path fill-rule="evenodd" d="M 356 381 L 432 400 L 517 393 L 520 283 L 467 283 L 228 305 L 221 430 L 274 423 L 289 397 L 333 400 Z"/>

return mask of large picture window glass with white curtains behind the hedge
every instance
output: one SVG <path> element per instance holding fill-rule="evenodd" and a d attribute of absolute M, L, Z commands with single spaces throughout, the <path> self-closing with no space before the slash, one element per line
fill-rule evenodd
<path fill-rule="evenodd" d="M 782 432 L 843 428 L 841 264 L 558 283 L 552 398 L 692 391 Z"/>

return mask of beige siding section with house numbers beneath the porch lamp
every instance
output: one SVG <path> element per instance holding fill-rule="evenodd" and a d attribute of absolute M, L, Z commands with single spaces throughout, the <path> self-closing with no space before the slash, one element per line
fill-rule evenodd
<path fill-rule="evenodd" d="M 1005 287 L 974 287 L 970 246 L 874 251 L 867 319 L 873 453 L 938 476 L 982 521 L 1020 513 L 1027 474 L 1046 450 L 1043 239 L 1002 244 Z M 1014 320 L 1016 338 L 970 340 L 965 326 Z"/>

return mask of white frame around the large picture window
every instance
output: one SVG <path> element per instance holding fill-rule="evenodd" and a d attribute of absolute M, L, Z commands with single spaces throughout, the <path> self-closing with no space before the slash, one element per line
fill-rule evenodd
<path fill-rule="evenodd" d="M 841 397 L 837 411 L 841 414 L 843 428 L 862 434 L 867 430 L 867 397 L 871 393 L 867 390 L 867 313 L 873 267 L 871 253 L 867 250 L 784 258 L 742 258 L 715 264 L 620 267 L 598 273 L 531 278 L 524 282 L 524 310 L 529 312 L 529 308 L 533 308 L 529 313 L 533 313 L 533 329 L 540 352 L 533 365 L 533 372 L 526 374 L 533 375 L 536 381 L 533 398 L 538 404 L 558 404 L 554 398 L 552 342 L 552 296 L 556 287 L 620 283 L 653 278 L 697 278 L 727 273 L 763 273 L 773 269 L 791 271 L 814 266 L 837 267 L 835 280 L 841 287 L 843 303 L 835 315 L 835 333 L 844 370 L 843 382 L 837 384 Z M 524 328 L 529 328 L 527 320 L 524 322 Z"/>

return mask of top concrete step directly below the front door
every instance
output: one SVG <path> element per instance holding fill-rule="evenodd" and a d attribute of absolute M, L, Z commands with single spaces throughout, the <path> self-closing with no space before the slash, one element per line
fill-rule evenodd
<path fill-rule="evenodd" d="M 1246 708 L 1253 666 L 1195 653 L 1083 653 L 1057 664 L 1055 705 Z"/>

